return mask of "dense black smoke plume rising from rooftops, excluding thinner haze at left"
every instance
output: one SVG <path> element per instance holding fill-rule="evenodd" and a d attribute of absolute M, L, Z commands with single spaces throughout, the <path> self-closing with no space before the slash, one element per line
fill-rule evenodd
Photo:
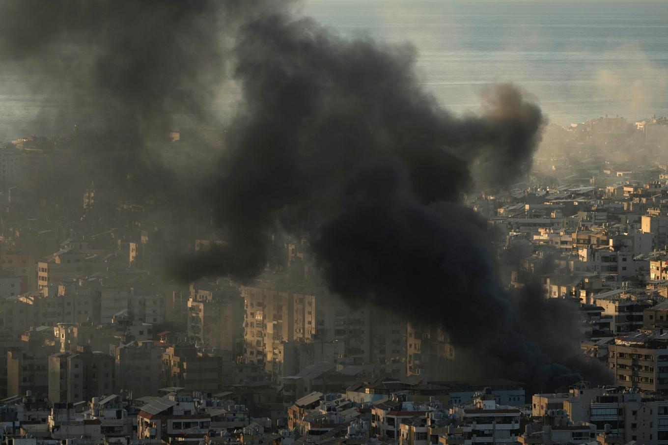
<path fill-rule="evenodd" d="M 462 204 L 474 173 L 506 186 L 530 167 L 543 118 L 518 88 L 490 87 L 479 116 L 456 118 L 420 87 L 412 47 L 339 39 L 286 15 L 243 27 L 236 57 L 245 110 L 210 187 L 229 244 L 182 276 L 259 273 L 265 229 L 287 212 L 289 233 L 315 230 L 331 291 L 440 323 L 464 356 L 486 352 L 458 363 L 529 388 L 603 378 L 558 337 L 577 313 L 502 290 L 486 221 Z"/>

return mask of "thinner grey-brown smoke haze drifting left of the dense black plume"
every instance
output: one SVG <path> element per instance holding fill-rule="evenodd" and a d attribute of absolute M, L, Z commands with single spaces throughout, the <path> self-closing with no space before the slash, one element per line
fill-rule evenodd
<path fill-rule="evenodd" d="M 279 9 L 281 2 L 275 3 Z M 190 185 L 184 165 L 171 168 L 161 157 L 167 133 L 190 126 L 222 128 L 216 101 L 228 78 L 229 38 L 240 24 L 238 17 L 252 17 L 261 4 L 263 9 L 269 5 L 240 0 L 0 2 L 1 61 L 29 76 L 32 97 L 58 104 L 57 113 L 45 109 L 36 120 L 61 120 L 62 114 L 71 119 L 62 122 L 68 130 L 79 124 L 79 136 L 69 143 L 77 174 L 51 176 L 57 168 L 47 169 L 38 185 L 60 191 L 78 190 L 90 180 L 112 186 L 130 182 L 144 194 L 162 196 Z M 205 144 L 182 147 L 206 149 Z"/>

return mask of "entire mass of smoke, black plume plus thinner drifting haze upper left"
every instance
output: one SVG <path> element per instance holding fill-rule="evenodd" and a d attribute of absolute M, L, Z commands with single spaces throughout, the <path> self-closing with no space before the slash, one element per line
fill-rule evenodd
<path fill-rule="evenodd" d="M 226 245 L 180 264 L 181 279 L 251 279 L 265 263 L 265 231 L 279 221 L 287 233 L 311 233 L 333 293 L 442 325 L 470 375 L 539 389 L 578 372 L 605 378 L 570 341 L 560 350 L 556 332 L 576 319 L 568 307 L 502 289 L 486 221 L 462 203 L 474 176 L 504 186 L 530 168 L 544 118 L 512 84 L 482 92 L 480 114 L 452 116 L 420 86 L 411 45 L 342 39 L 284 2 L 0 6 L 5 59 L 48 68 L 65 92 L 78 82 L 96 97 L 108 137 L 82 147 L 83 170 L 102 161 L 144 193 L 184 193 L 152 162 L 146 135 L 210 122 L 221 82 L 229 75 L 240 87 L 218 169 L 187 184 L 192 194 L 173 207 L 183 212 L 191 197 L 198 210 L 212 208 Z"/>

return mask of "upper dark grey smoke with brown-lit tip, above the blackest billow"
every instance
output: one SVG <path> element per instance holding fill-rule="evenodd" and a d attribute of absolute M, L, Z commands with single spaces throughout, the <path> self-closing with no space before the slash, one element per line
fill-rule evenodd
<path fill-rule="evenodd" d="M 345 41 L 309 19 L 268 15 L 242 28 L 235 55 L 245 110 L 209 193 L 230 250 L 254 253 L 256 267 L 275 212 L 337 214 L 343 187 L 365 162 L 396 160 L 421 204 L 456 202 L 472 182 L 471 164 L 512 166 L 494 174 L 508 184 L 522 167 L 507 158 L 529 164 L 539 138 L 540 110 L 511 85 L 484 92 L 482 116 L 440 108 L 420 88 L 409 46 Z"/>

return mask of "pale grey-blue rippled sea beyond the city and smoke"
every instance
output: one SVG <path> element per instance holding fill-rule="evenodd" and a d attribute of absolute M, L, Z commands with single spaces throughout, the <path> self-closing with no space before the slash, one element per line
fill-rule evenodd
<path fill-rule="evenodd" d="M 424 89 L 455 114 L 476 112 L 489 84 L 514 82 L 553 124 L 668 115 L 666 0 L 303 0 L 299 8 L 345 38 L 414 45 Z M 81 119 L 48 85 L 36 95 L 29 82 L 37 81 L 0 66 L 0 141 L 63 134 Z"/>

